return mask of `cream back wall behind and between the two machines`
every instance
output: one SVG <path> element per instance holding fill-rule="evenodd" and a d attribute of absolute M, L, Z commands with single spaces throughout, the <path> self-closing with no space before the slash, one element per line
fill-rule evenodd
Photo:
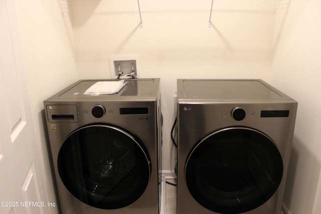
<path fill-rule="evenodd" d="M 274 0 L 70 0 L 81 79 L 110 78 L 109 57 L 138 55 L 139 78 L 161 78 L 164 170 L 178 78 L 270 79 Z"/>

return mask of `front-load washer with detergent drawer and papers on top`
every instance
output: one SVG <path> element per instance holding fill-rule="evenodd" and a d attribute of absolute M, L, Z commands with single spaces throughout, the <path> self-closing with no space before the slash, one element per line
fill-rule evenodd
<path fill-rule="evenodd" d="M 158 213 L 159 79 L 125 80 L 115 94 L 84 95 L 80 80 L 44 101 L 60 208 L 65 213 Z"/>

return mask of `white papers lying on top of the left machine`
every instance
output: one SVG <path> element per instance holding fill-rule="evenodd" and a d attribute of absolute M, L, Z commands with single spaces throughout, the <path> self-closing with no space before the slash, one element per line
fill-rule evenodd
<path fill-rule="evenodd" d="M 99 81 L 90 86 L 84 95 L 101 95 L 101 94 L 114 94 L 119 92 L 127 82 L 124 80 L 118 81 Z"/>

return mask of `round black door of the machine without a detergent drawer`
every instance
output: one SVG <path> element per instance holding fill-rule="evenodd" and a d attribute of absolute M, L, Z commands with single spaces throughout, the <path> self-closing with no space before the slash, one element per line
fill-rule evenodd
<path fill-rule="evenodd" d="M 203 138 L 190 152 L 185 178 L 194 199 L 218 213 L 242 213 L 265 203 L 277 190 L 283 162 L 265 134 L 230 127 Z"/>

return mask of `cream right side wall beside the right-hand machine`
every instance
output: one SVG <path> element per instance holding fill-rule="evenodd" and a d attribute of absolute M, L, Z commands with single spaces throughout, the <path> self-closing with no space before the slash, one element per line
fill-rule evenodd
<path fill-rule="evenodd" d="M 290 2 L 271 73 L 271 84 L 298 102 L 284 202 L 292 214 L 312 213 L 314 202 L 321 213 L 321 192 L 314 200 L 321 185 L 321 2 Z"/>

